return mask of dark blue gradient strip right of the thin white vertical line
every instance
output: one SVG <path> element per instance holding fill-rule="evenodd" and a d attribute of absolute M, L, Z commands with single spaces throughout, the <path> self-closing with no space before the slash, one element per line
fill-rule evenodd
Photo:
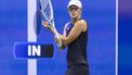
<path fill-rule="evenodd" d="M 119 0 L 118 74 L 132 75 L 132 0 Z"/>

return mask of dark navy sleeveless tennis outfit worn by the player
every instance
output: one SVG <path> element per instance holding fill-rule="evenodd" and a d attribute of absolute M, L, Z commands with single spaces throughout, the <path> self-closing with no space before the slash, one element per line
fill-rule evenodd
<path fill-rule="evenodd" d="M 66 34 L 72 28 L 71 22 L 68 23 Z M 89 75 L 87 61 L 88 30 L 82 32 L 79 37 L 68 45 L 67 70 L 65 75 Z"/>

